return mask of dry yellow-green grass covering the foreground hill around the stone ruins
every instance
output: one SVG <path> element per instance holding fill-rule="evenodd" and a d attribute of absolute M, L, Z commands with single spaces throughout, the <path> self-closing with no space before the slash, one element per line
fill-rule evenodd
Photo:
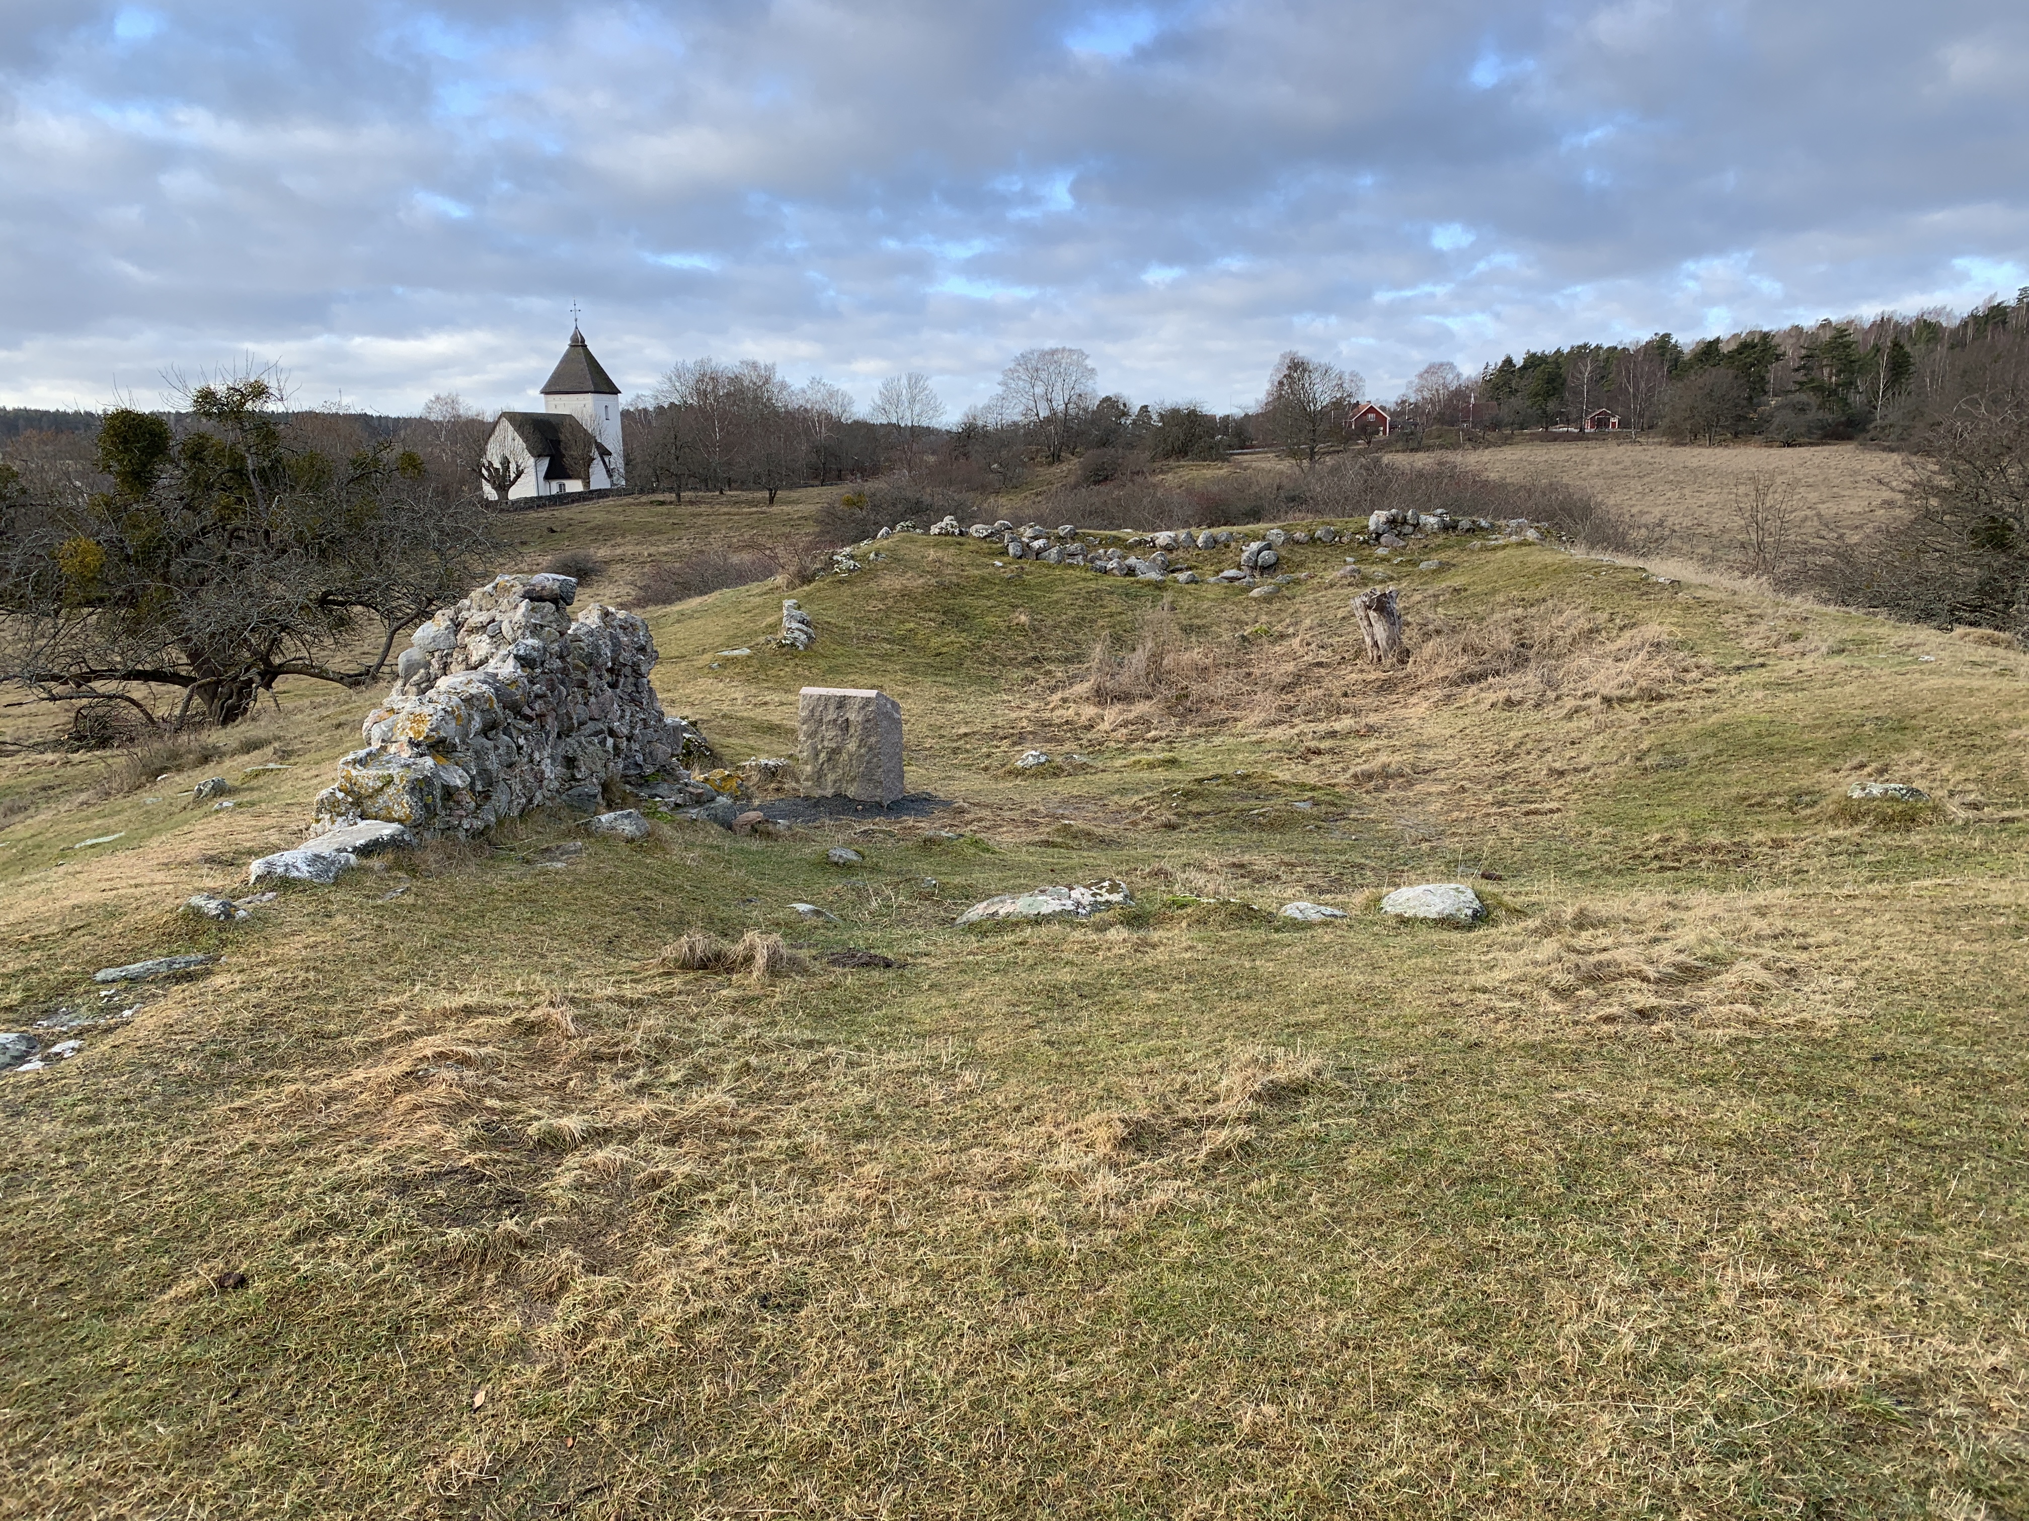
<path fill-rule="evenodd" d="M 359 694 L 0 760 L 0 1026 L 136 1006 L 0 1077 L 0 1515 L 2029 1513 L 2029 657 L 1447 541 L 1378 673 L 1339 552 L 1264 602 L 883 548 L 808 653 L 773 586 L 653 610 L 657 685 L 734 763 L 881 685 L 923 817 L 532 815 L 217 927 Z M 1459 878 L 1487 925 L 1374 911 Z M 666 955 L 747 931 L 901 965 Z"/>

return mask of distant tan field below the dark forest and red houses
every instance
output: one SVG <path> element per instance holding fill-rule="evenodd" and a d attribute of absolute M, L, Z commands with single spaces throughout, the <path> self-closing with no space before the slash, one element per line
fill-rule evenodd
<path fill-rule="evenodd" d="M 1402 454 L 1404 462 L 1457 458 Z M 1662 440 L 1585 438 L 1479 448 L 1471 468 L 1497 481 L 1558 481 L 1595 493 L 1668 539 L 1664 552 L 1725 562 L 1755 477 L 1790 493 L 1806 537 L 1842 537 L 1877 527 L 1893 511 L 1907 462 L 1861 444 L 1810 448 L 1704 448 Z"/>

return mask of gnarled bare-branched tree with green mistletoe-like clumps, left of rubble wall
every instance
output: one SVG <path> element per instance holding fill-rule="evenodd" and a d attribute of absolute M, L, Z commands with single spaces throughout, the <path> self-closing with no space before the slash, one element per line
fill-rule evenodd
<path fill-rule="evenodd" d="M 262 377 L 187 404 L 177 426 L 106 414 L 101 491 L 0 479 L 0 675 L 231 724 L 282 677 L 377 679 L 396 635 L 473 584 L 491 515 L 420 458 L 308 446 Z"/>

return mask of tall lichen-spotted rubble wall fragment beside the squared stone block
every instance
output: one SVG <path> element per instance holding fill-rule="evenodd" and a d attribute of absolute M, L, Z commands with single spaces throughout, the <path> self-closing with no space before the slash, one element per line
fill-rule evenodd
<path fill-rule="evenodd" d="M 633 612 L 576 617 L 568 576 L 499 576 L 410 637 L 367 748 L 339 763 L 314 831 L 363 819 L 475 836 L 544 803 L 594 811 L 607 781 L 708 756 L 649 685 L 655 641 Z"/>

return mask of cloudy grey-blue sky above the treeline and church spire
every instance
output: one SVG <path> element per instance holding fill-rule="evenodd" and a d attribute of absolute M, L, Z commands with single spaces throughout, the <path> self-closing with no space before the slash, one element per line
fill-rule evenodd
<path fill-rule="evenodd" d="M 0 0 L 0 402 L 1075 345 L 1250 406 L 2029 284 L 2023 0 Z"/>

